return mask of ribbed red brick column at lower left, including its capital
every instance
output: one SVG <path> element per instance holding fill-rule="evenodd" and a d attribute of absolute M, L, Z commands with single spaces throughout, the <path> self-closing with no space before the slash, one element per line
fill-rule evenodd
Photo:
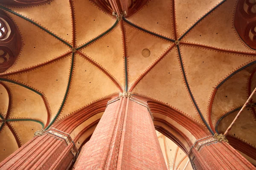
<path fill-rule="evenodd" d="M 0 163 L 1 170 L 65 170 L 72 165 L 77 149 L 67 133 L 51 128 Z"/>

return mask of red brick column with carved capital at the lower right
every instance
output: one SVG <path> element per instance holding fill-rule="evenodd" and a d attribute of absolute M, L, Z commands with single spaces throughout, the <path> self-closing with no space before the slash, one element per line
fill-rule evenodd
<path fill-rule="evenodd" d="M 189 157 L 198 170 L 256 170 L 223 137 L 208 136 L 191 147 Z"/>

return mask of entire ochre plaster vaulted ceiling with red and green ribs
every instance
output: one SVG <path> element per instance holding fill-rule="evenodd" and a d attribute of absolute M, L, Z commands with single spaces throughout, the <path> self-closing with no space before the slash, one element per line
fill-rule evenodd
<path fill-rule="evenodd" d="M 22 40 L 14 64 L 0 73 L 0 161 L 36 130 L 123 91 L 223 132 L 238 111 L 227 113 L 256 86 L 256 51 L 234 27 L 238 0 L 148 0 L 121 21 L 94 0 L 0 3 Z M 255 108 L 243 114 L 230 135 L 255 147 Z"/>

